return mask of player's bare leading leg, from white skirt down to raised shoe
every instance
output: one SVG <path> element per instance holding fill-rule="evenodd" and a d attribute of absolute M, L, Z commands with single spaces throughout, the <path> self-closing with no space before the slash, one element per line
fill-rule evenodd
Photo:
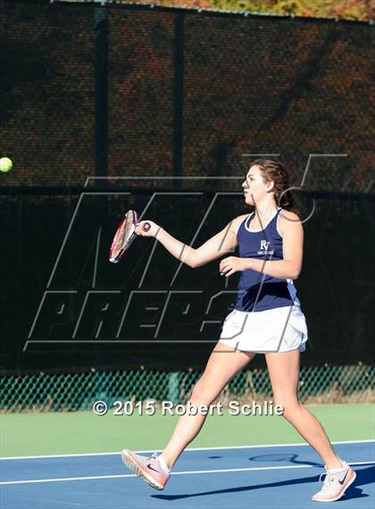
<path fill-rule="evenodd" d="M 221 390 L 236 376 L 239 370 L 245 368 L 255 355 L 254 352 L 242 352 L 226 344 L 218 343 L 210 355 L 204 373 L 193 387 L 187 403 L 209 407 Z M 205 417 L 200 412 L 196 415 L 189 415 L 186 412 L 179 417 L 171 439 L 162 452 L 162 457 L 170 469 L 179 454 L 199 433 Z"/>

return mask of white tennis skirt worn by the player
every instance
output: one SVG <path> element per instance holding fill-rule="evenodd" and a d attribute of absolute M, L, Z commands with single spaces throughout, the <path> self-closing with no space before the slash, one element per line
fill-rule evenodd
<path fill-rule="evenodd" d="M 225 318 L 220 343 L 256 353 L 304 352 L 307 326 L 299 306 L 264 311 L 233 310 Z"/>

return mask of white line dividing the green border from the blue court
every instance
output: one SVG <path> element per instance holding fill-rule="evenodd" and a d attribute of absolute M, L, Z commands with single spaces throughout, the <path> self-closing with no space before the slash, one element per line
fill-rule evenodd
<path fill-rule="evenodd" d="M 331 444 L 368 444 L 373 442 L 375 444 L 375 439 L 368 440 L 344 440 L 340 442 L 331 442 Z M 256 447 L 290 447 L 290 446 L 309 446 L 306 442 L 304 443 L 296 443 L 296 444 L 258 444 L 258 445 L 223 445 L 222 447 L 188 447 L 184 450 L 184 453 L 189 453 L 190 451 L 216 451 L 216 450 L 225 450 L 225 449 L 251 449 Z M 146 449 L 145 451 L 133 451 L 137 454 L 144 453 L 159 453 L 162 452 L 162 449 Z M 77 458 L 84 456 L 112 456 L 121 454 L 121 451 L 118 453 L 79 453 L 79 454 L 45 454 L 40 456 L 6 456 L 0 457 L 0 461 L 9 461 L 9 460 L 37 460 L 42 458 Z"/>

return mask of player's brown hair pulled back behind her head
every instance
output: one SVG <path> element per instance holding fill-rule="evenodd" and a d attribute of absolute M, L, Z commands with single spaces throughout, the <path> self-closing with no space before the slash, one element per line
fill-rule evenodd
<path fill-rule="evenodd" d="M 292 192 L 289 191 L 291 185 L 290 174 L 287 167 L 274 159 L 264 158 L 255 159 L 250 167 L 254 165 L 260 166 L 262 177 L 265 182 L 274 182 L 275 199 L 278 207 L 299 214 L 298 203 L 292 195 Z"/>

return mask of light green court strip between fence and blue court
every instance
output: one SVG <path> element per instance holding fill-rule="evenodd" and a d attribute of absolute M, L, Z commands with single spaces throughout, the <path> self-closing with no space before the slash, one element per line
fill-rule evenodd
<path fill-rule="evenodd" d="M 332 442 L 375 439 L 375 404 L 305 405 L 321 421 Z M 116 453 L 162 450 L 178 416 L 99 417 L 93 411 L 9 413 L 0 416 L 0 456 Z M 282 416 L 207 416 L 188 447 L 301 444 L 304 438 Z"/>

